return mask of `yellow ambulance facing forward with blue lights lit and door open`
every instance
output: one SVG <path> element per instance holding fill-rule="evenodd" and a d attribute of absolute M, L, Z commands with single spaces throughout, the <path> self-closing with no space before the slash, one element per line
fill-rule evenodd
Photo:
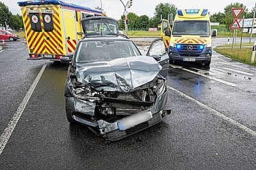
<path fill-rule="evenodd" d="M 198 61 L 211 65 L 212 40 L 208 10 L 177 10 L 172 26 L 161 21 L 161 37 L 164 39 L 170 62 Z"/>

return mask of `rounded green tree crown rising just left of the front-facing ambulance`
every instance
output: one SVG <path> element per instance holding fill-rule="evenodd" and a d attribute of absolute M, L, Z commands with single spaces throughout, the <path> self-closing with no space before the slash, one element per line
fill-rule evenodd
<path fill-rule="evenodd" d="M 172 13 L 173 16 L 175 16 L 176 12 L 177 7 L 174 4 L 159 3 L 156 6 L 154 18 L 158 18 L 160 20 L 162 15 L 163 19 L 168 19 L 168 14 Z"/>

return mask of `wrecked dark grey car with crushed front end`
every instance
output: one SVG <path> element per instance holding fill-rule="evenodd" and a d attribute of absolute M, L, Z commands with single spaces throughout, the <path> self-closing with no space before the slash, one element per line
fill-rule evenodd
<path fill-rule="evenodd" d="M 70 63 L 65 84 L 70 123 L 81 123 L 116 141 L 170 114 L 164 110 L 169 58 L 161 39 L 141 56 L 129 38 L 84 38 L 72 59 L 61 61 Z"/>

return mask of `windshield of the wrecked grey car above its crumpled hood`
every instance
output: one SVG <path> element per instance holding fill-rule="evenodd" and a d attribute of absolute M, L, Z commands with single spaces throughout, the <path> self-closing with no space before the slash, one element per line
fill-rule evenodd
<path fill-rule="evenodd" d="M 131 41 L 102 40 L 79 43 L 77 63 L 110 61 L 117 58 L 140 56 L 140 51 Z"/>

